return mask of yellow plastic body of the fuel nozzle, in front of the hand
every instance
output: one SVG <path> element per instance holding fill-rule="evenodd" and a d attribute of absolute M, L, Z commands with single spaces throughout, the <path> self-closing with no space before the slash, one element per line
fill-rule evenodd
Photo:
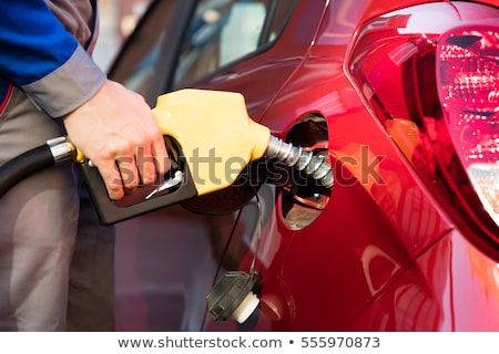
<path fill-rule="evenodd" d="M 152 112 L 162 134 L 181 145 L 198 195 L 232 185 L 269 144 L 269 129 L 248 117 L 240 93 L 180 90 L 157 97 Z"/>

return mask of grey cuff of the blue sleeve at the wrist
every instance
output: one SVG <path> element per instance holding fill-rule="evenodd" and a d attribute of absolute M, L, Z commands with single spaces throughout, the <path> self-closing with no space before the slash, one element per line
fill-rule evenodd
<path fill-rule="evenodd" d="M 82 46 L 55 71 L 22 90 L 51 117 L 61 117 L 89 101 L 103 85 L 105 73 Z"/>

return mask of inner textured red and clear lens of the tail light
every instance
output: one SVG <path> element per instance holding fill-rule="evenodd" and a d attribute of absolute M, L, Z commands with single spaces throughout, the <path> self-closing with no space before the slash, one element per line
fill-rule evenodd
<path fill-rule="evenodd" d="M 436 58 L 450 138 L 483 208 L 499 225 L 499 27 L 454 29 L 440 38 Z"/>

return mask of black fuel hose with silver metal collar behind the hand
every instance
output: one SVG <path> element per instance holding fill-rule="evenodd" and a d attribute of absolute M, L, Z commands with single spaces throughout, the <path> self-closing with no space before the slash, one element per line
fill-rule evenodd
<path fill-rule="evenodd" d="M 72 159 L 73 147 L 64 138 L 55 138 L 14 157 L 0 166 L 0 198 L 21 179 L 44 168 Z"/>

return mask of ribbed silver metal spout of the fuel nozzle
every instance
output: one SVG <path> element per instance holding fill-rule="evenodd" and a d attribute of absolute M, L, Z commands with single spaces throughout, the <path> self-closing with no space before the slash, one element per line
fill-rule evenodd
<path fill-rule="evenodd" d="M 305 152 L 299 146 L 285 143 L 271 135 L 265 156 L 277 159 L 288 167 L 303 170 L 308 176 L 319 180 L 326 188 L 333 187 L 333 168 L 322 155 L 314 155 L 312 152 Z"/>

